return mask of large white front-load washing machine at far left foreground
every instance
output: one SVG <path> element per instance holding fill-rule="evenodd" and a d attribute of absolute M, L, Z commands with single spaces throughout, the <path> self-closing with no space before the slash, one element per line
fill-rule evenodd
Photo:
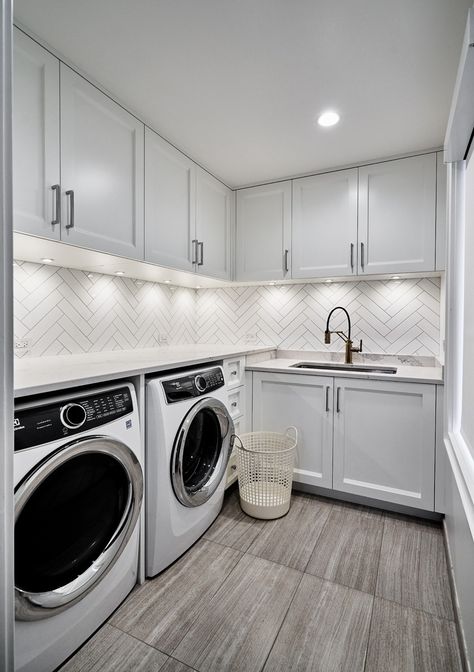
<path fill-rule="evenodd" d="M 50 672 L 137 579 L 143 455 L 132 385 L 15 408 L 15 669 Z"/>

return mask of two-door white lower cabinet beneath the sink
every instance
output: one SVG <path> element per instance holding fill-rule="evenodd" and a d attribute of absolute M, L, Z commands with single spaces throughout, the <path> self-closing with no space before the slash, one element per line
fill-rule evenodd
<path fill-rule="evenodd" d="M 298 429 L 294 480 L 432 511 L 434 385 L 253 374 L 253 429 Z"/>

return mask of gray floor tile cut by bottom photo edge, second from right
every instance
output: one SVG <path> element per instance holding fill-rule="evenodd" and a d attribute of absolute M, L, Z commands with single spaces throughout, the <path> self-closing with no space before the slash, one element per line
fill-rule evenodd
<path fill-rule="evenodd" d="M 363 672 L 373 599 L 305 574 L 265 672 Z"/>

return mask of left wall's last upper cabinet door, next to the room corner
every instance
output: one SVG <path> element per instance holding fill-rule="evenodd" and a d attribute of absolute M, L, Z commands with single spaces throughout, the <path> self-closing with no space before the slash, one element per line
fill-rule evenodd
<path fill-rule="evenodd" d="M 196 175 L 197 271 L 230 279 L 231 206 L 233 193 L 201 168 Z"/>

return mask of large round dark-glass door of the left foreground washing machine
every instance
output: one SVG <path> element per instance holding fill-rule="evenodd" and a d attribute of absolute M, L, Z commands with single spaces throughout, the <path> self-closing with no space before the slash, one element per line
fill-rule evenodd
<path fill-rule="evenodd" d="M 75 604 L 112 568 L 137 523 L 141 466 L 107 437 L 51 453 L 15 490 L 15 611 L 47 618 Z"/>

